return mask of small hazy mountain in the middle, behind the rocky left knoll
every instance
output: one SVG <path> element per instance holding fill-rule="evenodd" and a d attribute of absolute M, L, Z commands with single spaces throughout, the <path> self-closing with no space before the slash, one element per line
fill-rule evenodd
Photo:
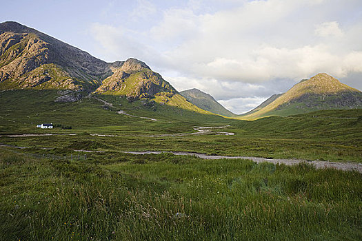
<path fill-rule="evenodd" d="M 191 89 L 181 91 L 180 94 L 190 101 L 190 103 L 200 107 L 201 109 L 208 110 L 214 114 L 220 114 L 222 116 L 237 116 L 236 114 L 230 112 L 228 109 L 225 109 L 219 102 L 217 102 L 214 97 L 210 94 L 201 92 L 201 90 Z"/>

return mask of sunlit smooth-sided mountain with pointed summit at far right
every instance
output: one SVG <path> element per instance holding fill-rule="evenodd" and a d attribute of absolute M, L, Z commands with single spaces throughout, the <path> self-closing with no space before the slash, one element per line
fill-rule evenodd
<path fill-rule="evenodd" d="M 355 108 L 362 108 L 362 92 L 323 73 L 302 80 L 284 94 L 270 97 L 259 107 L 241 115 L 241 118 L 256 119 L 264 116 L 301 114 L 319 109 Z"/>

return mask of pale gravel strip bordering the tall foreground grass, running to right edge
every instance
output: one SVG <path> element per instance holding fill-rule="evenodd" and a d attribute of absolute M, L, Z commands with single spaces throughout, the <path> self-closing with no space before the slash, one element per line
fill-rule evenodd
<path fill-rule="evenodd" d="M 122 153 L 134 154 L 134 155 L 144 155 L 144 154 L 161 154 L 161 153 L 171 153 L 177 156 L 197 156 L 202 159 L 244 159 L 252 160 L 255 163 L 274 163 L 274 164 L 284 164 L 288 166 L 297 165 L 299 163 L 308 163 L 314 165 L 316 169 L 321 168 L 335 168 L 343 171 L 352 171 L 356 170 L 362 173 L 362 164 L 361 163 L 335 163 L 328 161 L 306 161 L 299 159 L 269 159 L 261 158 L 254 156 L 208 156 L 205 154 L 199 154 L 194 152 L 177 152 L 177 151 L 121 151 Z"/>

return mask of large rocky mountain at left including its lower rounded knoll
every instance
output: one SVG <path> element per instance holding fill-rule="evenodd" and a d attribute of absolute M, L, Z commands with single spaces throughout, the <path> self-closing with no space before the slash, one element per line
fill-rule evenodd
<path fill-rule="evenodd" d="M 96 90 L 126 96 L 130 101 L 152 98 L 161 104 L 210 114 L 186 101 L 142 61 L 106 63 L 25 25 L 0 23 L 0 90 L 24 88 Z"/>

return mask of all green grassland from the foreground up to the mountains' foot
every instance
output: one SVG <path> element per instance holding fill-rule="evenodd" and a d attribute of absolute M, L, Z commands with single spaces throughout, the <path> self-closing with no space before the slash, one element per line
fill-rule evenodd
<path fill-rule="evenodd" d="M 97 96 L 108 106 L 95 98 L 55 103 L 56 96 L 0 92 L 0 143 L 28 147 L 0 147 L 0 240 L 362 239 L 356 171 L 120 152 L 361 162 L 361 109 L 239 121 L 152 100 Z M 117 114 L 120 109 L 133 116 Z M 40 123 L 59 127 L 35 128 Z M 226 127 L 174 135 L 196 132 L 194 126 Z M 70 160 L 79 154 L 74 149 L 104 152 Z"/>

